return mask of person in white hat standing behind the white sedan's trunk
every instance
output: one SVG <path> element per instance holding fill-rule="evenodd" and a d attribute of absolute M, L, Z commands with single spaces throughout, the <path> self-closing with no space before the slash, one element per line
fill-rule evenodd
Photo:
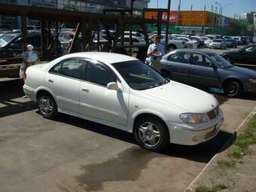
<path fill-rule="evenodd" d="M 33 49 L 32 44 L 27 44 L 25 51 L 22 53 L 23 62 L 20 66 L 20 78 L 23 79 L 24 84 L 26 81 L 26 69 L 28 69 L 29 66 L 35 65 L 35 62 L 38 61 L 38 54 Z M 23 96 L 23 98 L 26 98 L 26 96 Z"/>

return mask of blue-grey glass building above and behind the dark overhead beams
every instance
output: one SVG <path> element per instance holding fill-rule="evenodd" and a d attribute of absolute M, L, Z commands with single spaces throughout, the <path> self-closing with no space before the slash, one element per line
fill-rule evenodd
<path fill-rule="evenodd" d="M 150 0 L 136 0 L 133 4 L 133 8 L 135 11 L 148 8 L 149 2 Z M 130 8 L 131 6 L 131 0 L 0 0 L 0 3 L 58 8 L 93 13 L 102 13 L 102 10 L 105 8 L 121 9 Z M 31 25 L 38 23 L 40 22 L 35 20 L 30 21 Z M 20 27 L 20 18 L 1 15 L 0 26 Z"/>

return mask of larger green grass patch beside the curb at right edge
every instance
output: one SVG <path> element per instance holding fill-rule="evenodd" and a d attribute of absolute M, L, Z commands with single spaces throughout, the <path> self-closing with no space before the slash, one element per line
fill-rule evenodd
<path fill-rule="evenodd" d="M 237 136 L 236 141 L 228 152 L 226 160 L 218 160 L 217 165 L 221 169 L 233 168 L 236 163 L 242 163 L 242 156 L 251 154 L 250 145 L 256 144 L 256 115 L 248 122 L 247 127 L 243 133 Z"/>

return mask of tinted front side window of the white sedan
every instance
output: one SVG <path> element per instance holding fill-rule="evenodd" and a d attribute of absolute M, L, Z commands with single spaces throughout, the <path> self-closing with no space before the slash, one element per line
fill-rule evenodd
<path fill-rule="evenodd" d="M 85 70 L 85 80 L 94 84 L 107 86 L 110 82 L 117 82 L 117 77 L 108 66 L 101 63 L 93 63 L 87 61 L 87 68 Z"/>

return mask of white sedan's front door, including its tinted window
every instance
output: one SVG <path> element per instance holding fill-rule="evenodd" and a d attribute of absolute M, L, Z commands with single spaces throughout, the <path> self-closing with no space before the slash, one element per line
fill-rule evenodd
<path fill-rule="evenodd" d="M 108 90 L 110 82 L 120 82 L 105 64 L 87 60 L 85 81 L 81 83 L 81 113 L 89 117 L 126 126 L 129 92 Z"/>

